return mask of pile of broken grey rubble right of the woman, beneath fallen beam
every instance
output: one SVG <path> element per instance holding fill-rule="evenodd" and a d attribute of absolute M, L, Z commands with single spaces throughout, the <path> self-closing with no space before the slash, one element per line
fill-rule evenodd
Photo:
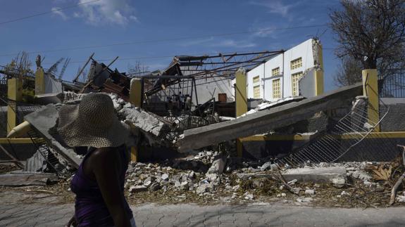
<path fill-rule="evenodd" d="M 301 181 L 283 183 L 269 162 L 254 167 L 249 162 L 235 165 L 226 160 L 223 174 L 209 169 L 220 160 L 218 152 L 203 151 L 182 160 L 161 163 L 131 163 L 125 190 L 132 202 L 197 202 L 199 204 L 232 202 L 285 202 L 294 205 L 335 207 L 381 207 L 390 198 L 390 184 L 375 181 L 370 166 L 377 162 L 345 162 L 311 165 L 312 169 L 342 167 L 344 183 Z M 216 166 L 216 168 L 218 165 Z M 273 169 L 272 169 L 273 167 Z M 282 169 L 284 174 L 286 169 Z M 284 174 L 287 177 L 287 175 Z M 405 202 L 405 194 L 397 202 Z"/>

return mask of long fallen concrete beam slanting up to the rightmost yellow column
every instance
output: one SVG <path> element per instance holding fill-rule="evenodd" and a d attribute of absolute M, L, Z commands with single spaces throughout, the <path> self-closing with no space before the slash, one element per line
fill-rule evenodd
<path fill-rule="evenodd" d="M 361 83 L 344 86 L 320 96 L 258 111 L 232 121 L 188 129 L 179 140 L 179 151 L 186 152 L 236 138 L 265 134 L 270 130 L 308 119 L 316 112 L 339 108 L 362 93 Z"/>

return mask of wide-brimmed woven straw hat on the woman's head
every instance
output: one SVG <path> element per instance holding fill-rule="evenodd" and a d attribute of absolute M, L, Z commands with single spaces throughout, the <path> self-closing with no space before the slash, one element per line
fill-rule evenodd
<path fill-rule="evenodd" d="M 110 96 L 89 93 L 80 104 L 61 107 L 58 133 L 70 147 L 104 148 L 125 143 L 130 130 L 118 120 Z"/>

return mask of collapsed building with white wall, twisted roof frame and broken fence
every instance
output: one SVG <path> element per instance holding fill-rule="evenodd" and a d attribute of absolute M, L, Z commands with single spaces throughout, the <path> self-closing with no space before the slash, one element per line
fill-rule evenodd
<path fill-rule="evenodd" d="M 218 174 L 236 168 L 232 157 L 252 160 L 262 171 L 323 162 L 390 161 L 398 154 L 395 145 L 405 143 L 405 127 L 397 122 L 405 102 L 380 98 L 375 70 L 363 71 L 363 83 L 323 93 L 322 48 L 317 39 L 287 51 L 175 56 L 165 70 L 135 77 L 112 70 L 115 60 L 105 65 L 90 56 L 85 64 L 90 63 L 90 70 L 82 82 L 77 81 L 82 70 L 73 82 L 64 82 L 37 65 L 35 75 L 27 77 L 35 82 L 35 101 L 30 105 L 21 102 L 19 78 L 9 76 L 8 86 L 2 86 L 8 89 L 2 119 L 8 144 L 1 158 L 19 162 L 14 156 L 20 155 L 7 150 L 25 147 L 20 159 L 33 155 L 25 162 L 27 171 L 71 174 L 86 150 L 63 143 L 55 130 L 57 110 L 79 103 L 90 92 L 108 93 L 120 119 L 130 125 L 132 161 L 216 150 L 209 151 L 209 162 L 193 161 L 190 166 L 199 173 L 217 174 L 197 178 L 207 184 L 197 182 L 191 172 L 185 179 L 195 181 L 193 186 L 183 183 L 182 176 L 173 181 L 175 188 L 202 193 L 218 185 Z M 18 140 L 25 143 L 10 142 Z M 205 157 L 195 156 L 200 158 Z M 208 172 L 207 163 L 214 170 Z M 130 191 L 152 185 L 144 186 L 144 181 Z M 156 190 L 163 186 L 158 183 Z"/>

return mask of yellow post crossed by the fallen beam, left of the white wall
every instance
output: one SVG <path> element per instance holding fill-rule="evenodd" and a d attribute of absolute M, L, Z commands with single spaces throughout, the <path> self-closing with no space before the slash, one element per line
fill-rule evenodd
<path fill-rule="evenodd" d="M 235 77 L 235 108 L 236 117 L 239 117 L 247 112 L 247 77 L 246 71 L 243 67 L 240 67 L 239 70 L 237 70 Z M 242 157 L 243 147 L 240 138 L 237 138 L 236 145 L 237 156 Z"/>

